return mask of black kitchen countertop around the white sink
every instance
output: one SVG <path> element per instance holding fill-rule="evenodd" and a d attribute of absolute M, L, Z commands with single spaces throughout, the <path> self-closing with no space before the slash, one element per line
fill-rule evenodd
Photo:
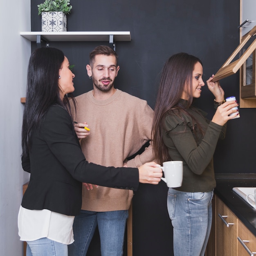
<path fill-rule="evenodd" d="M 256 209 L 232 191 L 234 187 L 256 187 L 256 174 L 216 174 L 215 178 L 217 184 L 214 189 L 215 194 L 256 236 Z"/>

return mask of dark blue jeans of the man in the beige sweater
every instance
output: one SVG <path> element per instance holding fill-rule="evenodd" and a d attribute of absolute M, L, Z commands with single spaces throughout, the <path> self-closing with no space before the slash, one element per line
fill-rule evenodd
<path fill-rule="evenodd" d="M 101 239 L 101 256 L 122 256 L 124 232 L 128 210 L 84 211 L 81 210 L 73 224 L 74 243 L 68 246 L 69 256 L 85 256 L 98 225 Z"/>

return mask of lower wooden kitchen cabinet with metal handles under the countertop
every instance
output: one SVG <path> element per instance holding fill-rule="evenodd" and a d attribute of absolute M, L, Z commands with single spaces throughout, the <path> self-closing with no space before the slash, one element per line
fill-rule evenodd
<path fill-rule="evenodd" d="M 217 195 L 213 199 L 213 223 L 205 255 L 256 255 L 256 237 Z"/>

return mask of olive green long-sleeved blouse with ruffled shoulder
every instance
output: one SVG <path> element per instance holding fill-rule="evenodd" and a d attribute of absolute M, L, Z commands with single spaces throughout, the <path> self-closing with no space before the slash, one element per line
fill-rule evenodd
<path fill-rule="evenodd" d="M 191 106 L 189 115 L 173 110 L 164 120 L 164 144 L 171 160 L 183 161 L 182 186 L 175 188 L 186 192 L 207 192 L 216 186 L 213 154 L 218 139 L 224 139 L 226 126 L 209 121 L 207 113 Z M 193 130 L 193 124 L 195 131 Z M 204 135 L 199 132 L 200 124 Z"/>

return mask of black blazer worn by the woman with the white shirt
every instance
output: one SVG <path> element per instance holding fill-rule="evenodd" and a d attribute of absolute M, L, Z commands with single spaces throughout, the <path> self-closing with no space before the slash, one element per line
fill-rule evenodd
<path fill-rule="evenodd" d="M 21 205 L 31 210 L 78 215 L 82 182 L 131 190 L 139 186 L 137 168 L 104 167 L 86 161 L 70 115 L 56 105 L 49 108 L 43 126 L 33 132 L 22 168 L 31 175 Z"/>

